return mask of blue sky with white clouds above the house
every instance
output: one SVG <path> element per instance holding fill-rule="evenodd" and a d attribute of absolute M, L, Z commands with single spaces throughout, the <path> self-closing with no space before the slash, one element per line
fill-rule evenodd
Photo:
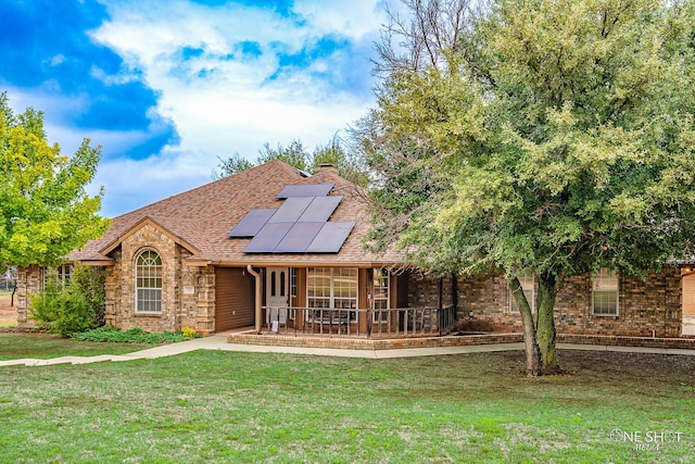
<path fill-rule="evenodd" d="M 384 0 L 5 0 L 0 91 L 65 154 L 102 146 L 90 192 L 115 216 L 210 181 L 218 156 L 344 134 L 374 105 L 386 22 Z"/>

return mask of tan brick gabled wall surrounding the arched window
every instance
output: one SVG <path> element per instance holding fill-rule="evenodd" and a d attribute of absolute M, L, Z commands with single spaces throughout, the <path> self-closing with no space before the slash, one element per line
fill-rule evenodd
<path fill-rule="evenodd" d="M 135 311 L 135 260 L 144 250 L 162 258 L 162 312 Z M 214 330 L 215 274 L 213 267 L 190 267 L 185 260 L 191 253 L 152 225 L 124 239 L 112 253 L 116 260 L 106 267 L 106 324 L 127 330 L 140 327 L 149 331 L 180 330 L 192 327 L 201 334 Z"/>

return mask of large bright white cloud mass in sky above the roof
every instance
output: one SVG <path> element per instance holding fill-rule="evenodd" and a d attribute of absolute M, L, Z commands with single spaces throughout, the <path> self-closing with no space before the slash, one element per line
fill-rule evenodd
<path fill-rule="evenodd" d="M 156 111 L 175 123 L 180 136 L 178 147 L 147 160 L 102 163 L 97 184 L 106 186 L 106 214 L 210 180 L 217 156 L 239 152 L 255 160 L 264 143 L 294 139 L 312 149 L 372 103 L 365 85 L 351 89 L 348 80 L 354 79 L 355 59 L 367 61 L 352 54 L 368 50 L 386 21 L 376 0 L 298 0 L 295 17 L 235 3 L 214 9 L 181 0 L 105 4 L 111 21 L 92 30 L 92 37 L 116 51 L 126 68 L 142 73 L 160 95 Z M 280 67 L 283 57 L 315 48 L 327 37 L 342 38 L 354 49 L 329 50 L 309 62 Z M 255 43 L 261 53 L 242 54 L 242 42 Z M 184 60 L 186 48 L 203 51 Z M 99 75 L 100 70 L 92 71 Z M 100 136 L 112 141 L 108 134 Z M 114 136 L 137 141 L 136 134 Z M 111 198 L 124 199 L 121 208 L 112 205 Z"/>

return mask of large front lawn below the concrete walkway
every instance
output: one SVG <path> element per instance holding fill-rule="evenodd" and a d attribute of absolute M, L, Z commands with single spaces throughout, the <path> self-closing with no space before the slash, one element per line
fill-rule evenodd
<path fill-rule="evenodd" d="M 192 352 L 3 367 L 5 462 L 691 462 L 695 356 L 355 360 Z M 616 430 L 680 432 L 639 450 Z M 612 435 L 611 435 L 612 432 Z M 78 444 L 77 444 L 78 443 Z"/>

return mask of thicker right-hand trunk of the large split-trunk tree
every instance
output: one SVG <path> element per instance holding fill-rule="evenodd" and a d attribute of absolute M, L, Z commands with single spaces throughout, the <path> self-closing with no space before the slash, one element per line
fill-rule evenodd
<path fill-rule="evenodd" d="M 541 351 L 541 363 L 543 374 L 558 374 L 560 372 L 557 364 L 555 350 L 555 298 L 559 290 L 561 278 L 549 273 L 540 275 L 539 292 L 536 297 L 538 326 L 535 337 Z"/>

